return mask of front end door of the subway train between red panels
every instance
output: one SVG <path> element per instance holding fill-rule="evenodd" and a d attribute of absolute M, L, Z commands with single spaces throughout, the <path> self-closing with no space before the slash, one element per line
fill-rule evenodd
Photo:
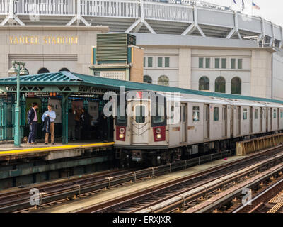
<path fill-rule="evenodd" d="M 149 143 L 149 116 L 148 106 L 145 103 L 134 104 L 132 117 L 132 143 Z"/>

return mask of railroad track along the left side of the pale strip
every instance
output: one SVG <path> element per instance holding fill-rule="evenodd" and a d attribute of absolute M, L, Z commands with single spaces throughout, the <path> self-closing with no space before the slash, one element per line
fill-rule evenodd
<path fill-rule="evenodd" d="M 159 167 L 150 167 L 144 170 L 114 170 L 101 175 L 90 175 L 85 177 L 75 177 L 56 182 L 45 183 L 43 185 L 33 185 L 40 192 L 40 204 L 37 208 L 51 206 L 53 204 L 69 201 L 77 197 L 85 197 L 96 194 L 101 190 L 110 187 L 120 187 L 129 182 L 148 179 L 164 175 L 168 172 L 183 170 L 184 168 L 200 165 L 204 162 L 218 160 L 233 155 L 233 151 L 228 150 L 222 153 L 204 155 L 192 160 L 184 160 Z M 0 194 L 0 212 L 30 212 L 34 207 L 30 205 L 30 188 L 13 190 Z"/>

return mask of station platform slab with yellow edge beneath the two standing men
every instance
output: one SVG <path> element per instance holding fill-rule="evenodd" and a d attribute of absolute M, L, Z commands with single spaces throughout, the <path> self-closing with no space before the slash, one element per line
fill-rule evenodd
<path fill-rule="evenodd" d="M 28 145 L 21 144 L 21 148 L 16 148 L 13 144 L 4 143 L 0 145 L 0 160 L 15 160 L 25 157 L 45 156 L 45 160 L 52 160 L 62 157 L 81 156 L 85 150 L 106 150 L 112 148 L 114 142 L 109 143 L 91 143 L 88 142 L 72 142 L 68 145 L 57 143 L 55 145 L 45 145 L 45 143 L 37 143 Z"/>

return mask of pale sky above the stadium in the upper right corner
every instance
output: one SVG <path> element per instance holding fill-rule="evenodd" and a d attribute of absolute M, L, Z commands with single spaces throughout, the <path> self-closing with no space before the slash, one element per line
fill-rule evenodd
<path fill-rule="evenodd" d="M 221 6 L 232 6 L 233 10 L 241 11 L 242 0 L 235 0 L 237 4 L 233 3 L 233 0 L 202 0 L 213 4 L 219 4 Z M 271 21 L 279 26 L 283 26 L 283 0 L 243 0 L 245 2 L 246 9 L 243 13 L 255 16 L 262 16 L 267 21 Z M 252 1 L 260 6 L 260 10 L 252 9 Z"/>

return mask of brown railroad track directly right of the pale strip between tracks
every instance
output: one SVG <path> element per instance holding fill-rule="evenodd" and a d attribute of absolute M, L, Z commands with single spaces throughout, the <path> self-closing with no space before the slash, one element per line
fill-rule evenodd
<path fill-rule="evenodd" d="M 111 201 L 106 201 L 101 204 L 96 204 L 93 206 L 88 206 L 84 209 L 75 211 L 76 213 L 95 213 L 95 212 L 122 212 L 122 213 L 134 213 L 134 212 L 156 212 L 156 211 L 172 211 L 178 206 L 182 206 L 185 202 L 185 198 L 182 194 L 190 190 L 201 187 L 204 184 L 209 184 L 217 178 L 225 177 L 231 172 L 236 172 L 243 170 L 250 165 L 255 165 L 256 163 L 267 160 L 273 157 L 277 153 L 282 151 L 282 145 L 277 148 L 272 148 L 265 150 L 265 152 L 258 153 L 256 155 L 245 157 L 242 160 L 238 160 L 230 163 L 229 165 L 212 168 L 200 174 L 191 175 L 188 177 L 183 177 L 180 179 L 175 179 L 172 182 L 166 182 L 164 184 L 158 185 L 156 187 L 151 187 L 150 189 L 142 190 L 141 192 L 136 192 L 127 196 L 122 196 Z M 275 157 L 274 160 L 270 162 L 265 162 L 265 165 L 260 165 L 256 171 L 270 167 L 270 165 L 275 165 L 277 162 L 282 162 L 283 155 L 280 157 Z M 252 172 L 250 172 L 252 174 Z M 204 190 L 205 191 L 205 190 Z M 174 198 L 179 196 L 178 203 L 174 204 Z M 194 196 L 197 196 L 195 194 Z M 200 197 L 200 196 L 199 196 Z M 198 197 L 196 197 L 198 198 Z M 168 206 L 158 207 L 158 204 L 167 202 Z M 173 204 L 173 206 L 171 206 Z M 156 206 L 153 208 L 153 206 Z"/>

